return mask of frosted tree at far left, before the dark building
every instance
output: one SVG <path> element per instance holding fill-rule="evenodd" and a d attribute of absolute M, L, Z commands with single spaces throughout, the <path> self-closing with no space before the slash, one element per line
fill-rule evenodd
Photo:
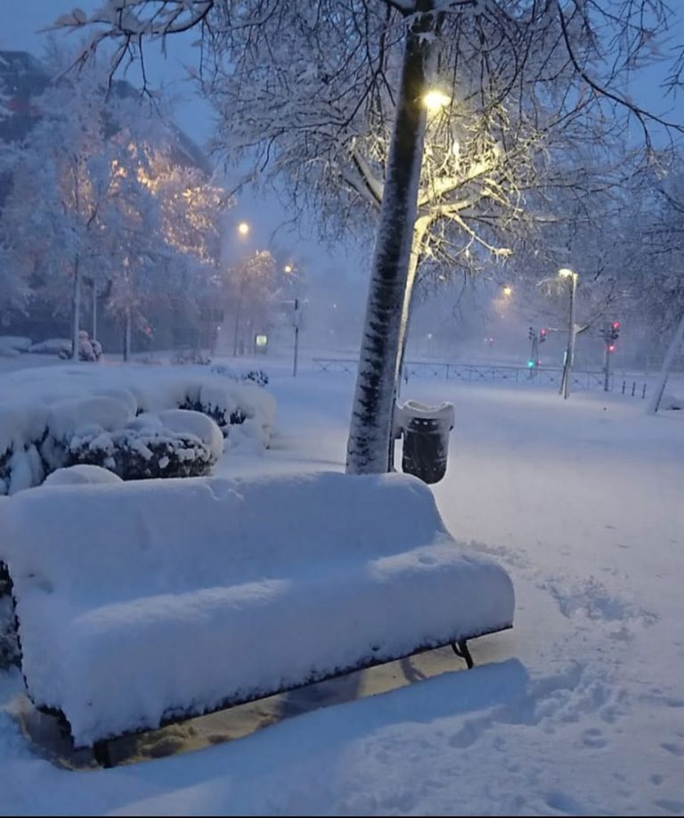
<path fill-rule="evenodd" d="M 56 304 L 70 301 L 77 356 L 84 276 L 108 276 L 116 264 L 107 225 L 119 185 L 102 78 L 88 71 L 77 84 L 51 86 L 35 107 L 34 127 L 5 156 L 3 244 Z"/>

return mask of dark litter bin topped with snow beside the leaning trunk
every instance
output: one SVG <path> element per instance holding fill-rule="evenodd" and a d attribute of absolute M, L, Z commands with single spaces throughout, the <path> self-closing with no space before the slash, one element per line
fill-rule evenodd
<path fill-rule="evenodd" d="M 397 406 L 397 427 L 403 436 L 402 471 L 425 483 L 436 483 L 446 473 L 453 404 L 438 406 L 407 400 Z"/>

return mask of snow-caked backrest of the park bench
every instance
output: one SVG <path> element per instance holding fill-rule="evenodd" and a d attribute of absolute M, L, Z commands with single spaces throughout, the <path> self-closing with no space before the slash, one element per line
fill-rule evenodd
<path fill-rule="evenodd" d="M 0 503 L 15 593 L 125 601 L 368 560 L 448 536 L 430 489 L 337 472 L 38 487 Z"/>

